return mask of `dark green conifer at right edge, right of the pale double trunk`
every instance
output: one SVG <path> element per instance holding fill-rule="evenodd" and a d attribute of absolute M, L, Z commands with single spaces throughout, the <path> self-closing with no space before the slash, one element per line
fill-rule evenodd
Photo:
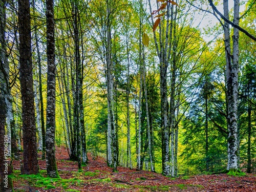
<path fill-rule="evenodd" d="M 255 109 L 256 109 L 256 69 L 252 65 L 245 65 L 244 75 L 241 77 L 241 86 L 238 106 L 238 125 L 240 139 L 240 162 L 247 173 L 252 173 L 256 162 L 255 150 Z"/>

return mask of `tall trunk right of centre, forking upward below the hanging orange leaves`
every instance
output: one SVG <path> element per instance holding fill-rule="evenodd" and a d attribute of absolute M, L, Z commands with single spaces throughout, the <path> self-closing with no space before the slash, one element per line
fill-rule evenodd
<path fill-rule="evenodd" d="M 159 2 L 158 2 L 159 3 Z M 152 13 L 151 1 L 148 1 L 150 12 Z M 170 58 L 170 46 L 172 42 L 172 16 L 173 6 L 168 2 L 166 5 L 166 24 L 159 24 L 159 38 L 157 39 L 156 31 L 154 31 L 154 41 L 157 55 L 159 58 L 160 72 L 160 100 L 161 100 L 161 134 L 162 134 L 162 174 L 170 175 L 170 157 L 169 157 L 169 132 L 170 123 L 168 119 L 168 100 L 167 100 L 167 69 Z M 173 18 L 173 17 L 172 17 Z M 154 25 L 153 15 L 151 22 Z M 171 23 L 169 23 L 171 22 Z"/>

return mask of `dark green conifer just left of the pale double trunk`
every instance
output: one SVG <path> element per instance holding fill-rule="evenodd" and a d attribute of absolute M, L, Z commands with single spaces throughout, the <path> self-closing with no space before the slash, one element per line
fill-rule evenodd
<path fill-rule="evenodd" d="M 183 121 L 185 175 L 217 172 L 226 166 L 225 101 L 217 99 L 222 90 L 213 80 L 207 75 L 199 84 L 198 97 Z"/>

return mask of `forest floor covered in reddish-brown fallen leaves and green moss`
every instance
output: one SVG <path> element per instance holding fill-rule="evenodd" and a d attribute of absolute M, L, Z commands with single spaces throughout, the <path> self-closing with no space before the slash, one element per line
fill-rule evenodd
<path fill-rule="evenodd" d="M 69 161 L 66 148 L 56 147 L 61 179 L 47 178 L 46 162 L 40 159 L 39 175 L 20 175 L 20 163 L 13 161 L 14 191 L 256 191 L 255 174 L 242 177 L 219 174 L 168 178 L 161 174 L 124 167 L 118 167 L 118 172 L 113 173 L 102 158 L 93 160 L 88 155 L 88 165 L 83 166 L 83 172 L 78 172 L 77 162 Z"/>

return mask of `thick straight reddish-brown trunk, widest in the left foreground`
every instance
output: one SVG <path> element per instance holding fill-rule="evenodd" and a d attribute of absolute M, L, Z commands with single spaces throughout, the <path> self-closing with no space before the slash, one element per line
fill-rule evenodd
<path fill-rule="evenodd" d="M 24 164 L 21 172 L 38 174 L 29 0 L 18 1 L 18 24 L 24 146 Z"/>

